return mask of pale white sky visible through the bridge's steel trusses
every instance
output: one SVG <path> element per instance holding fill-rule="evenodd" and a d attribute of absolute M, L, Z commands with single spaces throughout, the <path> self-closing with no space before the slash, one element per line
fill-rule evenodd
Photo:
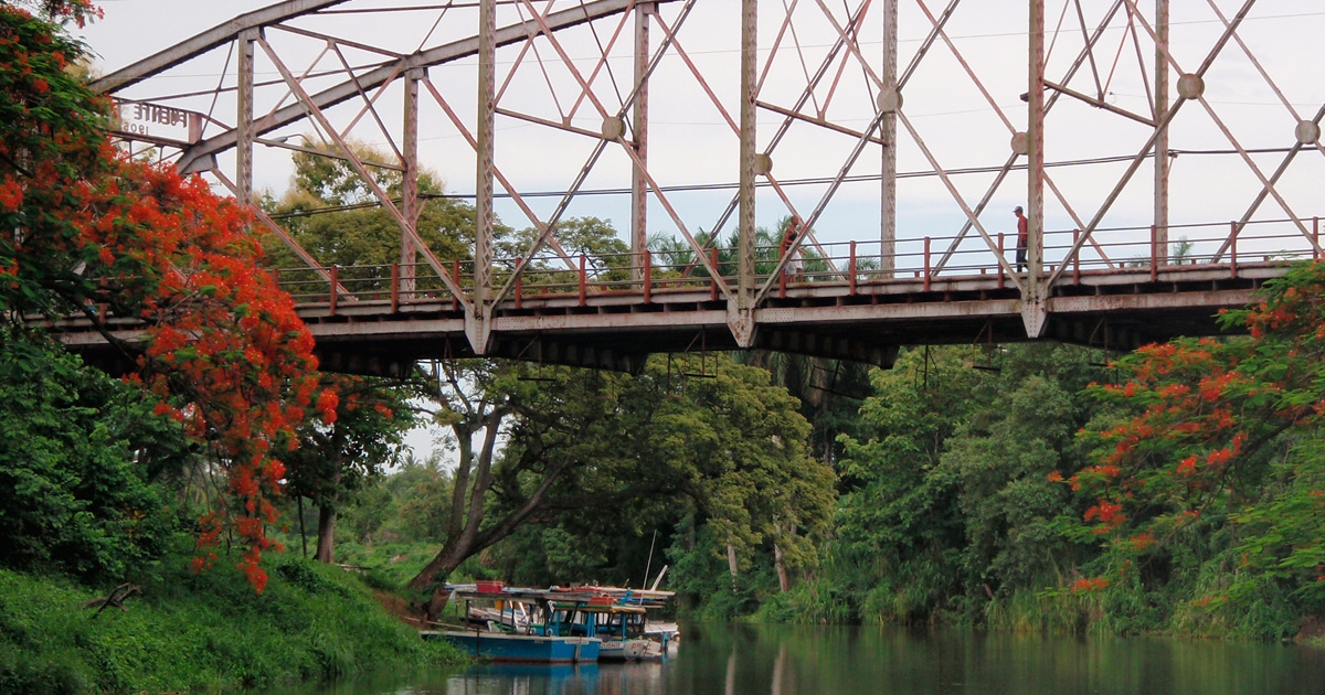
<path fill-rule="evenodd" d="M 1047 3 L 1047 42 L 1052 44 L 1048 57 L 1047 77 L 1061 81 L 1069 62 L 1083 45 L 1081 26 L 1076 23 L 1076 4 L 1072 0 L 1045 0 Z M 89 26 L 83 36 L 99 56 L 103 71 L 109 73 L 132 61 L 140 60 L 156 50 L 164 49 L 197 32 L 221 24 L 231 17 L 256 9 L 268 3 L 252 0 L 195 1 L 195 0 L 101 0 L 106 19 Z M 405 0 L 400 4 L 439 4 L 427 0 Z M 543 3 L 537 3 L 543 7 Z M 558 7 L 567 3 L 559 1 Z M 790 1 L 787 4 L 791 4 Z M 1153 12 L 1153 0 L 1142 0 L 1140 8 L 1147 16 Z M 1232 16 L 1242 1 L 1215 0 L 1214 7 L 1224 16 Z M 343 8 L 384 7 L 386 3 L 354 0 Z M 824 5 L 835 7 L 836 16 L 844 9 L 836 3 L 824 0 Z M 880 69 L 881 60 L 881 19 L 880 7 L 874 1 L 871 9 L 873 20 L 860 38 L 860 50 L 872 70 Z M 921 45 L 921 38 L 929 30 L 924 8 L 937 15 L 946 5 L 943 0 L 901 0 L 900 61 L 902 66 L 910 62 Z M 1086 23 L 1093 29 L 1108 3 L 1083 3 Z M 1206 0 L 1183 0 L 1173 3 L 1173 56 L 1183 71 L 1194 71 L 1214 44 L 1222 24 Z M 661 5 L 661 16 L 669 24 L 674 20 L 680 3 Z M 804 64 L 795 53 L 780 50 L 772 62 L 772 70 L 763 83 L 759 98 L 782 107 L 792 107 L 800 90 L 806 86 L 806 73 L 812 71 L 822 60 L 827 46 L 835 38 L 832 25 L 824 19 L 815 1 L 803 0 L 796 4 L 795 36 L 783 38 L 783 48 L 791 41 L 804 49 Z M 778 36 L 784 16 L 784 3 L 761 3 L 759 45 L 761 69 L 768 57 L 768 49 Z M 692 56 L 704 73 L 709 86 L 727 106 L 733 118 L 738 118 L 735 93 L 738 85 L 739 58 L 739 4 L 735 0 L 704 0 L 694 15 L 681 29 L 681 45 Z M 498 25 L 514 20 L 511 5 L 504 5 Z M 1065 15 L 1064 15 L 1065 13 Z M 476 15 L 470 9 L 453 9 L 439 21 L 437 11 L 409 13 L 368 13 L 341 15 L 323 19 L 302 19 L 293 24 L 322 30 L 342 38 L 374 44 L 400 53 L 409 53 L 420 45 L 433 46 L 462 36 L 472 34 Z M 1060 17 L 1065 17 L 1060 30 Z M 1104 34 L 1094 54 L 1096 71 L 1089 66 L 1077 73 L 1068 83 L 1081 93 L 1096 91 L 1096 74 L 1100 86 L 1106 93 L 1106 102 L 1121 109 L 1149 115 L 1147 86 L 1141 78 L 1138 57 L 1132 46 L 1130 36 L 1124 29 L 1120 13 L 1110 29 Z M 840 21 L 840 20 L 839 20 Z M 576 29 L 560 34 L 567 53 L 574 58 L 582 73 L 594 69 L 592 56 L 599 54 L 598 42 L 611 38 L 616 24 L 606 20 L 598 25 L 596 34 L 587 29 Z M 1024 130 L 1027 122 L 1026 106 L 1019 95 L 1027 85 L 1027 1 L 1026 0 L 965 0 L 947 25 L 949 36 L 959 49 L 962 58 L 974 70 L 988 91 L 992 102 L 999 106 L 1016 130 Z M 1312 118 L 1325 103 L 1325 60 L 1318 52 L 1321 29 L 1325 29 L 1325 4 L 1320 0 L 1260 0 L 1252 9 L 1248 21 L 1239 32 L 1247 49 L 1251 50 L 1261 68 L 1275 79 L 1283 98 L 1289 102 L 1300 118 Z M 1145 66 L 1153 69 L 1153 44 L 1138 26 Z M 322 44 L 306 37 L 284 32 L 268 32 L 268 38 L 281 58 L 295 73 L 310 68 L 310 61 L 318 54 Z M 653 45 L 662 38 L 662 32 L 655 26 Z M 606 102 L 608 110 L 619 107 L 620 97 L 611 79 L 620 89 L 629 89 L 629 41 L 631 28 L 623 32 L 619 48 L 612 52 L 612 73 L 600 74 L 595 82 L 596 94 Z M 498 85 L 510 73 L 519 46 L 509 46 L 498 53 Z M 366 52 L 346 49 L 346 60 L 351 64 L 366 64 L 380 60 Z M 220 85 L 233 85 L 233 62 L 228 75 L 223 77 L 227 62 L 227 49 L 220 49 L 189 61 L 163 75 L 135 86 L 125 95 L 129 98 L 159 98 L 166 94 L 187 91 L 205 93 Z M 567 89 L 571 85 L 570 73 L 559 64 L 556 53 L 546 41 L 538 44 L 538 58 L 542 68 L 530 56 L 514 73 L 511 87 L 502 95 L 501 106 L 545 118 L 559 119 L 570 109 Z M 335 65 L 335 57 L 325 57 L 318 69 Z M 546 73 L 545 73 L 546 69 Z M 835 68 L 836 70 L 836 68 Z M 277 73 L 270 61 L 261 56 L 257 62 L 258 81 L 274 79 Z M 863 128 L 873 116 L 872 98 L 865 86 L 861 64 L 852 58 L 843 71 L 839 87 L 831 97 L 825 118 L 835 123 Z M 1174 73 L 1177 74 L 1177 73 Z M 472 128 L 474 120 L 474 62 L 462 61 L 456 65 L 439 66 L 431 70 L 432 82 L 443 93 L 457 114 Z M 335 78 L 339 81 L 339 78 Z M 1175 78 L 1174 78 L 1175 81 Z M 556 85 L 555 99 L 550 95 L 547 83 Z M 831 82 L 831 81 L 829 81 Z M 824 105 L 828 95 L 825 82 L 816 93 L 816 101 L 804 109 L 814 113 L 815 105 Z M 310 81 L 310 90 L 321 89 L 331 82 Z M 685 65 L 676 57 L 664 61 L 655 74 L 651 93 L 651 172 L 661 185 L 677 184 L 721 184 L 737 180 L 737 138 L 710 103 L 700 83 L 689 74 Z M 1174 98 L 1177 97 L 1174 89 Z M 925 144 L 938 162 L 947 169 L 998 167 L 1010 155 L 1010 131 L 980 90 L 967 78 L 961 62 L 942 44 L 935 44 L 910 82 L 902 90 L 904 113 L 920 131 Z M 1280 148 L 1295 143 L 1293 128 L 1296 118 L 1289 113 L 1272 89 L 1257 73 L 1256 65 L 1244 54 L 1243 46 L 1230 42 L 1211 70 L 1206 74 L 1206 98 L 1230 132 L 1247 148 Z M 285 99 L 284 87 L 272 87 L 257 97 L 258 113 L 272 109 Z M 444 111 L 431 99 L 423 97 L 420 120 L 420 151 L 425 167 L 439 172 L 450 192 L 473 192 L 474 159 L 473 151 L 464 138 L 452 127 Z M 399 87 L 388 90 L 382 97 L 380 114 L 395 136 L 400 122 Z M 216 99 L 199 94 L 193 98 L 171 102 L 172 105 L 197 111 L 215 109 L 217 119 L 231 123 L 235 119 L 235 102 L 229 94 Z M 350 103 L 333 109 L 329 115 L 343 124 L 354 118 L 359 106 Z M 582 106 L 571 122 L 582 128 L 596 131 L 602 118 L 590 106 Z M 768 143 L 780 116 L 770 111 L 759 113 L 759 146 Z M 380 131 L 370 128 L 371 119 L 360 120 L 354 131 L 359 140 L 386 144 L 387 138 Z M 917 143 L 901 127 L 898 136 L 898 171 L 920 172 L 931 169 Z M 280 135 L 311 134 L 309 124 L 285 128 Z M 1067 162 L 1090 158 L 1136 155 L 1150 135 L 1147 126 L 1108 114 L 1081 102 L 1061 98 L 1045 124 L 1047 160 Z M 594 140 L 531 126 L 509 118 L 498 118 L 497 165 L 523 192 L 564 191 L 584 164 L 586 156 L 595 144 Z M 815 126 L 799 123 L 794 126 L 775 150 L 774 176 L 783 181 L 794 179 L 831 177 L 843 165 L 855 142 L 844 135 L 827 134 Z M 1173 122 L 1171 143 L 1174 150 L 1230 150 L 1230 139 L 1199 103 L 1187 103 Z M 852 175 L 877 175 L 881 167 L 881 150 L 871 146 L 851 168 Z M 1252 160 L 1269 175 L 1279 165 L 1283 154 L 1253 154 Z M 290 165 L 285 151 L 277 148 L 257 148 L 256 183 L 277 193 L 288 185 Z M 233 167 L 233 159 L 223 158 L 223 167 Z M 1077 216 L 1089 221 L 1105 196 L 1117 183 L 1125 164 L 1094 164 L 1067 168 L 1051 168 L 1049 176 L 1067 197 Z M 629 160 L 620 148 L 608 150 L 603 162 L 594 169 L 586 188 L 616 189 L 629 181 Z M 965 173 L 953 176 L 954 185 L 963 199 L 974 207 L 984 189 L 992 181 L 991 173 Z M 1285 173 L 1279 191 L 1298 217 L 1309 218 L 1322 212 L 1320 203 L 1321 184 L 1325 183 L 1325 156 L 1320 151 L 1302 152 Z M 824 216 L 816 224 L 820 241 L 845 242 L 860 240 L 865 242 L 861 254 L 869 252 L 868 244 L 877 244 L 880 225 L 880 191 L 877 181 L 844 185 L 832 199 Z M 1102 226 L 1149 225 L 1153 220 L 1151 204 L 1153 173 L 1149 163 L 1143 164 L 1118 203 L 1105 217 Z M 804 216 L 816 207 L 824 192 L 823 185 L 788 187 L 796 209 Z M 1214 238 L 1223 234 L 1227 220 L 1242 217 L 1252 199 L 1260 191 L 1260 184 L 1252 169 L 1238 155 L 1198 155 L 1185 154 L 1174 160 L 1171 177 L 1171 222 L 1196 224 L 1218 222 L 1219 226 L 1192 228 L 1183 230 L 1194 240 Z M 685 225 L 693 232 L 710 229 L 721 210 L 734 193 L 731 191 L 704 191 L 676 193 L 672 200 Z M 556 199 L 531 199 L 531 205 L 539 214 L 546 214 Z M 991 233 L 1012 232 L 1014 218 L 1010 210 L 1026 201 L 1026 175 L 1014 172 L 998 189 L 990 208 L 980 216 L 982 224 Z M 761 189 L 758 197 L 758 224 L 772 226 L 787 214 L 786 207 L 768 189 Z M 527 220 L 510 203 L 501 203 L 498 213 L 506 224 L 527 226 Z M 628 226 L 628 196 L 587 196 L 576 199 L 568 214 L 594 214 L 611 218 L 619 229 Z M 1273 200 L 1267 200 L 1256 218 L 1284 218 L 1287 213 Z M 937 177 L 908 177 L 898 181 L 898 238 L 900 252 L 917 250 L 918 240 L 925 236 L 947 237 L 955 234 L 965 222 L 961 207 Z M 1069 210 L 1047 192 L 1045 228 L 1049 230 L 1071 230 L 1073 222 Z M 730 226 L 729 226 L 730 229 Z M 1284 225 L 1264 225 L 1267 232 L 1277 229 L 1287 233 L 1283 240 L 1264 240 L 1263 248 L 1279 249 L 1285 244 L 1301 245 L 1301 237 Z M 649 207 L 649 230 L 677 234 L 665 209 L 657 203 Z M 1118 233 L 1116 233 L 1118 234 Z M 1126 234 L 1130 234 L 1128 237 Z M 1117 241 L 1136 238 L 1137 233 L 1118 234 Z M 677 234 L 678 236 L 678 234 Z M 1174 237 L 1181 236 L 1174 232 Z M 909 241 L 909 244 L 908 244 Z M 1247 244 L 1255 245 L 1255 241 Z M 969 241 L 963 249 L 977 249 L 975 241 Z M 986 253 L 983 249 L 980 253 Z M 1124 255 L 1132 253 L 1121 252 Z M 905 262 L 902 262 L 905 265 Z M 425 442 L 417 442 L 420 454 L 427 450 Z"/>

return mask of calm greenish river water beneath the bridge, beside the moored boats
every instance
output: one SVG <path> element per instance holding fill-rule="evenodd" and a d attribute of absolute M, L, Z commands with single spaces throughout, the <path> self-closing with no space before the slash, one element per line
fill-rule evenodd
<path fill-rule="evenodd" d="M 889 627 L 688 626 L 666 663 L 476 666 L 318 695 L 1325 694 L 1325 649 Z"/>

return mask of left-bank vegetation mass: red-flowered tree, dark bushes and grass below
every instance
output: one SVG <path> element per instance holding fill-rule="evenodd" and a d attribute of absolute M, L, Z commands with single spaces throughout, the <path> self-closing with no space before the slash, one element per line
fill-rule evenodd
<path fill-rule="evenodd" d="M 81 0 L 29 5 L 95 15 Z M 83 53 L 50 19 L 0 3 L 0 691 L 266 686 L 453 661 L 342 571 L 273 563 L 285 490 L 354 478 L 344 458 L 294 451 L 331 436 L 347 457 L 380 453 L 391 413 L 356 409 L 379 404 L 315 372 L 240 205 L 111 146 L 110 105 L 74 69 Z M 142 319 L 142 342 L 106 335 L 129 373 L 69 355 L 42 332 L 53 316 Z"/>

